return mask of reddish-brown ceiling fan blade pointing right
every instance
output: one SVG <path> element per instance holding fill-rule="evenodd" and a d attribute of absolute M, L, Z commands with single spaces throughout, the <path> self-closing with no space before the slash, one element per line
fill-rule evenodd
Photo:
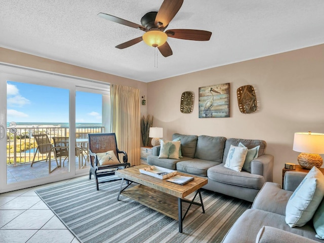
<path fill-rule="evenodd" d="M 170 29 L 166 31 L 168 37 L 189 39 L 190 41 L 209 41 L 212 32 L 198 29 Z"/>

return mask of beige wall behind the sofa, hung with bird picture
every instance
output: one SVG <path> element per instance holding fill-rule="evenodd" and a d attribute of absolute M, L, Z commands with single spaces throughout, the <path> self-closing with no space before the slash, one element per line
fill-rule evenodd
<path fill-rule="evenodd" d="M 230 83 L 230 117 L 198 118 L 198 88 L 224 83 Z M 238 109 L 236 90 L 243 85 L 256 91 L 259 108 L 252 114 Z M 277 183 L 285 163 L 297 164 L 294 133 L 324 133 L 324 45 L 158 80 L 147 89 L 147 113 L 166 139 L 175 132 L 263 139 L 274 155 Z M 184 91 L 195 96 L 191 114 L 180 112 Z"/>

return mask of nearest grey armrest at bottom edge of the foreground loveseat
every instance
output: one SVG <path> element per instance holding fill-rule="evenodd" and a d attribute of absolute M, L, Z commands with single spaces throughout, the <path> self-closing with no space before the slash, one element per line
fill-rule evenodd
<path fill-rule="evenodd" d="M 256 243 L 315 243 L 317 241 L 282 229 L 263 226 L 256 238 Z"/>

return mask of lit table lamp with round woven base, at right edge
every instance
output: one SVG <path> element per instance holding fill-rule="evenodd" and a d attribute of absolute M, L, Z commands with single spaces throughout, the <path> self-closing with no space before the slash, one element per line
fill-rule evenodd
<path fill-rule="evenodd" d="M 319 153 L 324 153 L 324 134 L 322 133 L 295 133 L 293 150 L 301 152 L 298 155 L 299 165 L 307 170 L 313 166 L 320 168 L 323 159 Z"/>

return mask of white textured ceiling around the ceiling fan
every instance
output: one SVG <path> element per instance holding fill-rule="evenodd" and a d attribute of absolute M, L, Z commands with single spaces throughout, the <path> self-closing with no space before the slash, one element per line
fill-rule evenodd
<path fill-rule="evenodd" d="M 173 55 L 144 42 L 115 46 L 144 32 L 97 16 L 141 24 L 163 0 L 0 0 L 0 47 L 143 82 L 324 43 L 323 0 L 184 0 L 167 29 L 211 31 L 208 42 L 168 38 Z"/>

